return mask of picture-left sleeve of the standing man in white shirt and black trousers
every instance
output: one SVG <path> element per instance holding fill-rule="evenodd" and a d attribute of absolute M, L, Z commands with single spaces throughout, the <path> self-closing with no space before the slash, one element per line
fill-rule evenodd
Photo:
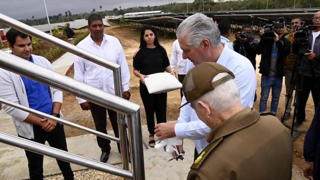
<path fill-rule="evenodd" d="M 84 83 L 84 72 L 85 72 L 85 63 L 84 59 L 80 58 L 79 56 L 74 56 L 74 78 L 77 81 L 80 81 L 81 83 Z M 87 100 L 82 99 L 80 97 L 76 97 L 79 104 L 86 102 Z"/>

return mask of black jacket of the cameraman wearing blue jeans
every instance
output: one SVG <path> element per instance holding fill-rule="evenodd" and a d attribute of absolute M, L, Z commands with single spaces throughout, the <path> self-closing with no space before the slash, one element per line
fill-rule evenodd
<path fill-rule="evenodd" d="M 259 73 L 265 76 L 269 76 L 270 62 L 271 62 L 271 51 L 273 46 L 273 39 L 261 38 L 258 46 L 256 47 L 256 54 L 261 55 Z M 291 42 L 283 35 L 279 41 L 276 42 L 279 58 L 277 60 L 276 77 L 284 76 L 284 64 L 285 58 L 290 53 Z"/>

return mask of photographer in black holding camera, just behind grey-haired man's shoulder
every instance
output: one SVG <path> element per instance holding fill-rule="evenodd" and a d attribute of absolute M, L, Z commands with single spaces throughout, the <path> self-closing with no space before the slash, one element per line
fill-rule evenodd
<path fill-rule="evenodd" d="M 241 32 L 236 33 L 234 38 L 234 51 L 248 58 L 256 70 L 256 46 L 259 41 L 253 36 L 252 27 L 249 24 L 243 25 Z"/>

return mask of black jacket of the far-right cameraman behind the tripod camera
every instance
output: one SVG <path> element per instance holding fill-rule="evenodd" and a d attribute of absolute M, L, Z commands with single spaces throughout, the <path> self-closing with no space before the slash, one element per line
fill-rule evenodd
<path fill-rule="evenodd" d="M 310 39 L 310 47 L 312 46 L 313 42 L 313 35 L 312 31 L 309 32 L 309 39 Z M 292 52 L 294 54 L 298 54 L 298 44 L 292 45 Z M 313 52 L 316 54 L 316 57 L 313 60 L 309 60 L 307 56 L 299 55 L 299 60 L 296 62 L 297 66 L 302 66 L 302 75 L 313 77 L 313 72 L 315 77 L 320 77 L 320 35 L 316 37 L 315 45 L 313 48 Z M 301 62 L 302 59 L 302 62 Z"/>

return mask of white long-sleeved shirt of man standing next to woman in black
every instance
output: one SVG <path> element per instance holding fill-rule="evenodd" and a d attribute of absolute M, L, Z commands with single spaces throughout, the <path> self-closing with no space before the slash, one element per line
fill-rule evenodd
<path fill-rule="evenodd" d="M 116 37 L 104 34 L 101 46 L 98 46 L 89 34 L 79 42 L 77 46 L 106 60 L 119 64 L 123 90 L 129 90 L 129 67 L 122 46 Z M 78 56 L 74 58 L 74 79 L 115 94 L 113 71 Z M 79 104 L 87 101 L 79 97 L 77 97 L 77 100 Z"/>

